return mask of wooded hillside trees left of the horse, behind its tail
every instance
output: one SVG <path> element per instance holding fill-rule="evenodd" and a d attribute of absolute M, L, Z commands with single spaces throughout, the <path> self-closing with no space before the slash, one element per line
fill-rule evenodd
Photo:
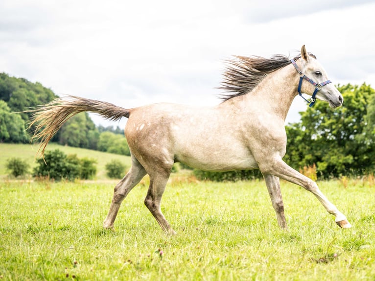
<path fill-rule="evenodd" d="M 0 142 L 27 143 L 34 133 L 28 128 L 31 113 L 16 113 L 37 108 L 58 98 L 42 84 L 0 73 Z M 123 130 L 95 126 L 88 113 L 71 117 L 51 141 L 73 147 L 130 155 Z"/>

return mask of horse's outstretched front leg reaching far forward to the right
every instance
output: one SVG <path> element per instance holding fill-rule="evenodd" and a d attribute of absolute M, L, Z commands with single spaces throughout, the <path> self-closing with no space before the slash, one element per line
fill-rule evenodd
<path fill-rule="evenodd" d="M 340 212 L 335 205 L 333 205 L 327 197 L 320 191 L 318 185 L 311 179 L 297 172 L 295 169 L 288 166 L 281 158 L 273 159 L 261 168 L 261 171 L 267 174 L 275 175 L 281 179 L 284 179 L 288 182 L 294 183 L 301 187 L 304 187 L 306 190 L 312 192 L 320 201 L 320 203 L 326 208 L 328 213 L 335 216 L 335 222 L 341 228 L 350 228 L 352 225 L 347 220 L 346 216 Z"/>

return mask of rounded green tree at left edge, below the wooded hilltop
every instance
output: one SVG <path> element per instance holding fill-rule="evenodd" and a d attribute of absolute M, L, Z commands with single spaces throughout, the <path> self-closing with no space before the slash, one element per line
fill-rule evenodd
<path fill-rule="evenodd" d="M 19 114 L 11 114 L 10 108 L 0 100 L 0 142 L 25 142 L 25 123 Z"/>

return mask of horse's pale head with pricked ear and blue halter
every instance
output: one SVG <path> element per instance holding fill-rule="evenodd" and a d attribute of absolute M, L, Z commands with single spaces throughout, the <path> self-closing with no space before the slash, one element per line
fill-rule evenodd
<path fill-rule="evenodd" d="M 299 93 L 302 92 L 311 95 L 312 102 L 310 106 L 314 104 L 315 98 L 327 101 L 331 108 L 341 106 L 344 101 L 343 96 L 331 81 L 328 80 L 327 72 L 322 65 L 314 56 L 307 53 L 305 45 L 301 48 L 301 58 L 300 69 L 293 63 L 302 77 L 298 87 Z M 307 80 L 310 83 L 302 83 L 303 80 Z"/>

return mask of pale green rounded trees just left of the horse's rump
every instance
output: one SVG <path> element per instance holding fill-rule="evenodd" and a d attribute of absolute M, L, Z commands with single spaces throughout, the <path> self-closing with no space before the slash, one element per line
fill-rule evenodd
<path fill-rule="evenodd" d="M 130 156 L 128 142 L 125 137 L 109 131 L 100 134 L 97 148 L 99 151 Z"/>

